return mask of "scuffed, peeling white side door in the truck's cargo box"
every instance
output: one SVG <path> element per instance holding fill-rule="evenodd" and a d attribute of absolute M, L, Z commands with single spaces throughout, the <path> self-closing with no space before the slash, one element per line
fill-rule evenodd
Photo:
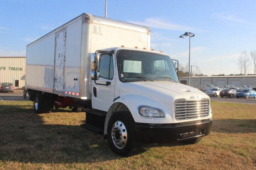
<path fill-rule="evenodd" d="M 55 34 L 54 90 L 64 91 L 66 29 Z"/>

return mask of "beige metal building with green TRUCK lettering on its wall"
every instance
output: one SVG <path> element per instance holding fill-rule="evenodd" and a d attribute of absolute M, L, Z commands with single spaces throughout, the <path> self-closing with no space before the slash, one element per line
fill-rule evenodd
<path fill-rule="evenodd" d="M 25 86 L 25 67 L 26 57 L 0 57 L 0 82 L 21 89 Z"/>

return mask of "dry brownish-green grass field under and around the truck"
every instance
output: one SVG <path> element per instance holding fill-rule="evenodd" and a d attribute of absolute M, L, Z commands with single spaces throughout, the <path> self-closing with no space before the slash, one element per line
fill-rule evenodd
<path fill-rule="evenodd" d="M 144 144 L 122 158 L 80 126 L 85 113 L 33 112 L 0 102 L 0 169 L 256 169 L 256 105 L 211 102 L 213 126 L 195 145 Z"/>

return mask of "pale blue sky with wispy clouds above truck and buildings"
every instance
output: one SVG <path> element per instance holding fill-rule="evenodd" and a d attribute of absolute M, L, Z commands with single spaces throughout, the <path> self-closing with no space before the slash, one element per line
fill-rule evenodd
<path fill-rule="evenodd" d="M 105 0 L 0 0 L 0 56 L 26 56 L 26 45 L 79 16 L 104 16 Z M 203 74 L 239 74 L 242 51 L 256 50 L 255 1 L 108 0 L 107 17 L 149 26 L 151 48 Z M 252 61 L 251 61 L 252 62 Z M 248 73 L 254 73 L 251 63 Z M 246 73 L 247 74 L 247 73 Z"/>

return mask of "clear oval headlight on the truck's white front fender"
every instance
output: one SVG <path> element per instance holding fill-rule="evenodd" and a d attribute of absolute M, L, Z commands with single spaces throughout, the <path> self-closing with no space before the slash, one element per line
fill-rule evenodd
<path fill-rule="evenodd" d="M 139 114 L 150 118 L 164 118 L 165 114 L 160 109 L 142 106 L 138 108 Z"/>

